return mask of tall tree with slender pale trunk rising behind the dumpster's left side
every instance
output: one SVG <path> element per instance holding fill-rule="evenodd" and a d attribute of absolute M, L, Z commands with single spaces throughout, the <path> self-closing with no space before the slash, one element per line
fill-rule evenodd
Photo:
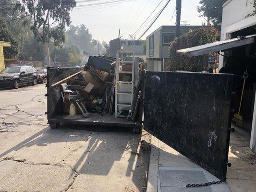
<path fill-rule="evenodd" d="M 75 0 L 21 0 L 15 10 L 29 16 L 33 24 L 30 29 L 37 40 L 44 44 L 48 66 L 50 66 L 49 40 L 59 47 L 65 41 L 65 26 L 70 25 L 70 11 L 76 6 Z M 56 27 L 50 27 L 55 24 Z"/>

